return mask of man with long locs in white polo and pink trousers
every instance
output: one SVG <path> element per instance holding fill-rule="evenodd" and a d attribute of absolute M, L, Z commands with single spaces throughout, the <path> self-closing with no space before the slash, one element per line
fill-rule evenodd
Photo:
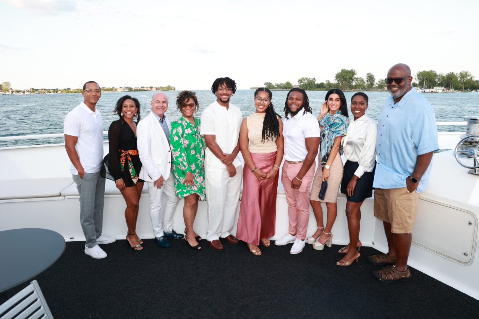
<path fill-rule="evenodd" d="M 309 221 L 309 189 L 314 176 L 314 160 L 319 148 L 319 123 L 311 113 L 309 99 L 301 88 L 292 88 L 285 101 L 285 163 L 281 183 L 288 202 L 289 232 L 274 242 L 282 246 L 294 242 L 290 253 L 303 251 Z"/>

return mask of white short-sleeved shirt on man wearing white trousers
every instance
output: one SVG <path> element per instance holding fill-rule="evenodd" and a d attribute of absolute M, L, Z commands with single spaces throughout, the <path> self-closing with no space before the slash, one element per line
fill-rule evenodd
<path fill-rule="evenodd" d="M 223 153 L 231 154 L 238 144 L 239 129 L 241 128 L 241 110 L 229 103 L 228 110 L 226 107 L 214 101 L 201 113 L 201 135 L 215 135 L 216 143 Z M 205 164 L 218 168 L 226 168 L 221 160 L 206 148 Z M 235 167 L 241 165 L 239 157 L 236 156 L 233 161 Z"/>

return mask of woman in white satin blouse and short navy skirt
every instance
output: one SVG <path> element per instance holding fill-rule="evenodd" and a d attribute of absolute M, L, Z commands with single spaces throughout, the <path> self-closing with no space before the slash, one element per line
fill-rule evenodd
<path fill-rule="evenodd" d="M 351 98 L 351 121 L 342 138 L 342 148 L 347 159 L 344 165 L 344 174 L 341 183 L 341 192 L 346 194 L 346 217 L 348 219 L 349 244 L 339 250 L 346 255 L 336 264 L 349 266 L 361 255 L 356 249 L 360 248 L 359 221 L 361 220 L 361 205 L 366 198 L 373 196 L 373 180 L 376 169 L 376 136 L 377 123 L 370 119 L 367 110 L 368 97 L 358 92 Z"/>

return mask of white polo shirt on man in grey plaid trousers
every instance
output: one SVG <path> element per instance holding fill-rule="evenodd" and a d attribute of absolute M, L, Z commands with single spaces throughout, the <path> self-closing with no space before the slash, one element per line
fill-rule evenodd
<path fill-rule="evenodd" d="M 63 133 L 78 136 L 75 149 L 85 173 L 99 172 L 103 161 L 103 120 L 100 111 L 95 108 L 93 112 L 81 102 L 65 117 Z M 70 172 L 72 175 L 78 174 L 73 164 Z"/>

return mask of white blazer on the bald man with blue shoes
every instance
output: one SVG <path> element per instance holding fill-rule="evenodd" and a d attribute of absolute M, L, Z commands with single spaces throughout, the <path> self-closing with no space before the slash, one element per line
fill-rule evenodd
<path fill-rule="evenodd" d="M 171 130 L 170 121 L 165 120 L 168 129 Z M 160 176 L 168 179 L 171 170 L 170 143 L 168 143 L 160 122 L 152 112 L 137 125 L 137 146 L 138 155 L 143 165 L 138 177 L 147 182 L 154 182 Z"/>

